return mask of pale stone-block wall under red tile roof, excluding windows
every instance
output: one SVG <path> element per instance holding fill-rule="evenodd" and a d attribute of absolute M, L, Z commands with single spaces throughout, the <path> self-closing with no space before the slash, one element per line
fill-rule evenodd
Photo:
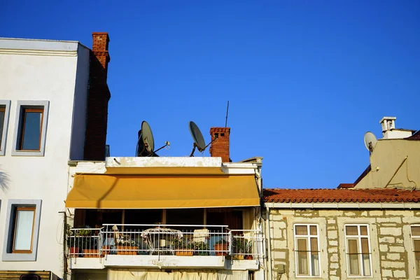
<path fill-rule="evenodd" d="M 283 210 L 270 209 L 269 230 L 273 279 L 313 279 L 295 276 L 293 251 L 295 223 L 319 228 L 321 279 L 355 279 L 347 276 L 344 225 L 366 223 L 370 228 L 372 277 L 357 279 L 414 279 L 410 225 L 420 223 L 420 211 L 411 210 Z M 279 265 L 286 273 L 279 274 Z"/>

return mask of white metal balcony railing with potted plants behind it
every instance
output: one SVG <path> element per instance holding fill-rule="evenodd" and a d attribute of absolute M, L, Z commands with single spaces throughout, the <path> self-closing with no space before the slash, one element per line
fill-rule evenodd
<path fill-rule="evenodd" d="M 226 225 L 123 225 L 73 228 L 67 237 L 70 258 L 106 255 L 229 255 L 255 259 L 262 252 L 258 230 L 230 230 Z"/>

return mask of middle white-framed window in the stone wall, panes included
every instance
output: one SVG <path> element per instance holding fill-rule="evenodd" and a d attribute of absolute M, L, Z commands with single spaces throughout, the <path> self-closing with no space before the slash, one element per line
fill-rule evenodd
<path fill-rule="evenodd" d="M 371 276 L 369 225 L 345 225 L 349 276 Z"/>

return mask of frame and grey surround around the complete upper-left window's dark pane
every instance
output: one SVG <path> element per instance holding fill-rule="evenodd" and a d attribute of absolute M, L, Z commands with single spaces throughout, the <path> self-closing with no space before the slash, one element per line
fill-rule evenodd
<path fill-rule="evenodd" d="M 16 107 L 16 124 L 15 124 L 15 133 L 13 134 L 13 148 L 12 148 L 12 155 L 22 155 L 22 156 L 41 156 L 43 157 L 45 153 L 45 137 L 47 136 L 47 124 L 48 124 L 48 111 L 50 107 L 49 101 L 43 100 L 26 100 L 26 101 L 18 101 L 18 105 Z M 25 109 L 43 109 L 43 120 L 42 120 L 42 130 L 41 130 L 41 144 L 39 147 L 39 151 L 26 151 L 20 150 L 18 148 L 19 140 L 18 137 L 20 135 L 20 130 L 22 129 L 22 121 L 23 121 L 23 114 L 22 111 Z"/>

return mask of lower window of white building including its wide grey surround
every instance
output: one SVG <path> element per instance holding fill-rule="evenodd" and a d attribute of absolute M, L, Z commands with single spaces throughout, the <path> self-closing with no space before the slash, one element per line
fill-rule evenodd
<path fill-rule="evenodd" d="M 41 200 L 8 200 L 6 215 L 2 260 L 36 260 Z"/>

